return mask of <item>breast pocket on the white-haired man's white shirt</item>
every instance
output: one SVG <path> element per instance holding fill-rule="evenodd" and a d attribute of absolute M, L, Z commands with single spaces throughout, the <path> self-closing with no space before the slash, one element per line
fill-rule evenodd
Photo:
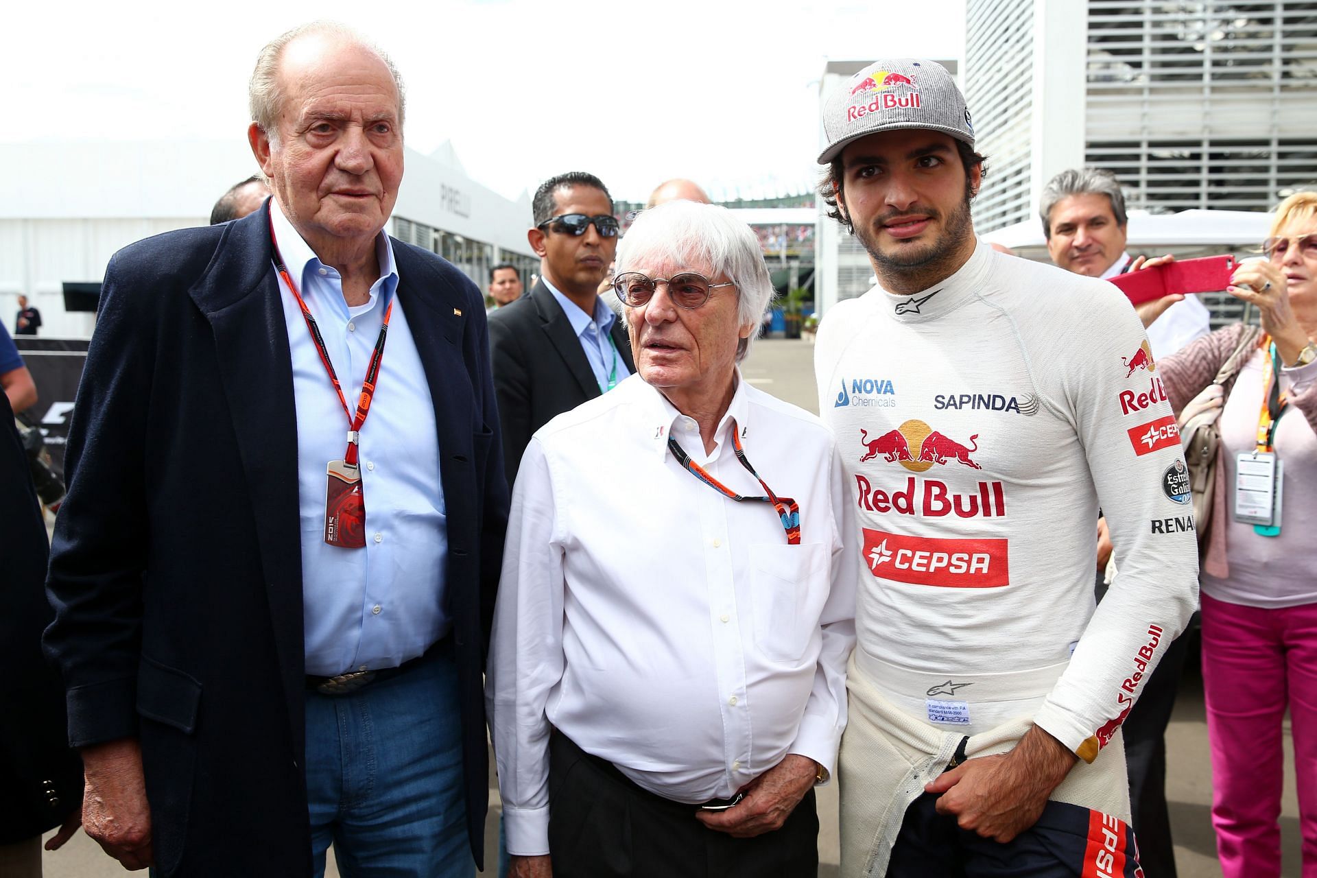
<path fill-rule="evenodd" d="M 751 545 L 755 642 L 769 661 L 797 663 L 813 642 L 827 600 L 827 557 L 822 542 Z"/>

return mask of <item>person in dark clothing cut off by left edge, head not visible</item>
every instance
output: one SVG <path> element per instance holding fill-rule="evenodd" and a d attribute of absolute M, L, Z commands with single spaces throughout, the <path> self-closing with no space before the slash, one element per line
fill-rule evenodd
<path fill-rule="evenodd" d="M 41 878 L 41 835 L 54 850 L 82 824 L 83 775 L 65 742 L 63 686 L 41 654 L 46 523 L 13 412 L 0 398 L 0 875 Z"/>

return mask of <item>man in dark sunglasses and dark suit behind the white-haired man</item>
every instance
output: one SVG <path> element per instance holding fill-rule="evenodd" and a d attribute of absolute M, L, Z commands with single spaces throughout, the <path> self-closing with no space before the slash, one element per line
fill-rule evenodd
<path fill-rule="evenodd" d="M 619 234 L 607 187 L 593 174 L 558 174 L 536 190 L 532 212 L 540 280 L 490 315 L 508 484 L 535 430 L 636 369 L 626 329 L 598 295 Z"/>

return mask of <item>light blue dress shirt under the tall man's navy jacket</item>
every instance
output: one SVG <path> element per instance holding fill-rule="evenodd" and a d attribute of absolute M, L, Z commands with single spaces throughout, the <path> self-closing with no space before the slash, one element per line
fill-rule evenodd
<path fill-rule="evenodd" d="M 370 287 L 366 304 L 349 308 L 338 272 L 316 258 L 273 199 L 270 216 L 279 253 L 316 319 L 353 415 L 385 311 L 390 300 L 395 303 L 375 396 L 361 428 L 366 546 L 344 549 L 324 541 L 325 465 L 341 459 L 348 448 L 348 416 L 296 299 L 279 280 L 298 409 L 307 673 L 332 677 L 395 667 L 446 634 L 450 620 L 444 600 L 448 525 L 435 405 L 407 325 L 407 303 L 394 295 L 392 246 L 381 233 L 375 242 L 379 280 Z"/>

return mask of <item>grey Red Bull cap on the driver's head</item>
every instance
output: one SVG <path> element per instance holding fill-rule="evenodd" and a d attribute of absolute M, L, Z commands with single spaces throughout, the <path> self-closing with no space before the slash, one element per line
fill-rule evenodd
<path fill-rule="evenodd" d="M 975 145 L 965 97 L 947 68 L 935 61 L 889 58 L 868 65 L 828 96 L 819 165 L 853 140 L 898 128 L 925 128 Z"/>

